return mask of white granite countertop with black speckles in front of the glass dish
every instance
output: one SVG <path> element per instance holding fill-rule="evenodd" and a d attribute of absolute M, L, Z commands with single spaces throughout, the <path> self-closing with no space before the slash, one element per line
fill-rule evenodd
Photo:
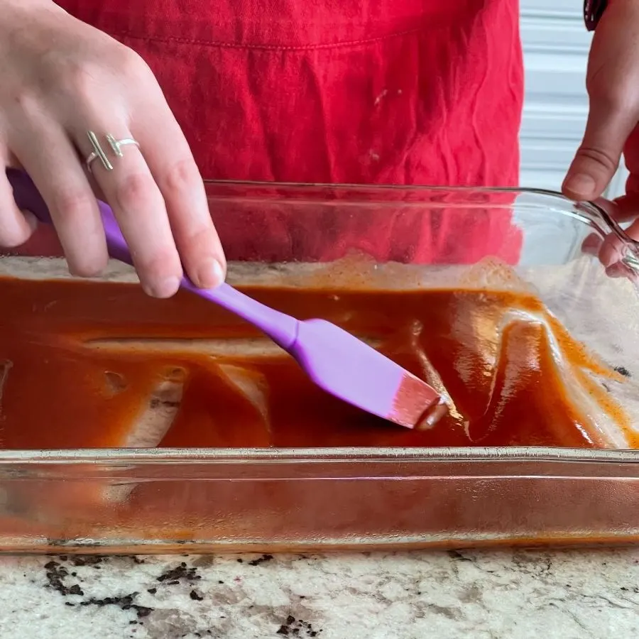
<path fill-rule="evenodd" d="M 0 636 L 634 639 L 639 549 L 0 557 Z"/>

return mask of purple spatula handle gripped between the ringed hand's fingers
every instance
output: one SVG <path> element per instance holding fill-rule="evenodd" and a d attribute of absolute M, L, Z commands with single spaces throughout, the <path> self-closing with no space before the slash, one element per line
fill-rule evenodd
<path fill-rule="evenodd" d="M 6 175 L 11 187 L 13 187 L 13 197 L 18 207 L 31 211 L 40 222 L 51 224 L 49 209 L 31 178 L 23 171 L 16 169 L 8 169 Z M 129 247 L 126 245 L 111 207 L 99 200 L 98 206 L 107 236 L 109 255 L 116 260 L 132 265 L 133 260 Z M 284 349 L 288 350 L 297 338 L 298 322 L 295 318 L 253 300 L 252 297 L 240 293 L 239 290 L 226 283 L 214 289 L 204 289 L 197 288 L 189 278 L 184 277 L 180 286 L 239 315 L 265 332 L 268 337 L 273 339 L 273 342 Z"/>

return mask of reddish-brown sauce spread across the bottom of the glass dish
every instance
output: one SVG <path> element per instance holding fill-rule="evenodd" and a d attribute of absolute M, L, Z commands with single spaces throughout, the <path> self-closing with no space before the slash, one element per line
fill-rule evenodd
<path fill-rule="evenodd" d="M 0 447 L 606 445 L 567 380 L 629 431 L 591 375 L 618 374 L 528 293 L 244 290 L 370 340 L 442 385 L 451 414 L 420 432 L 366 415 L 195 295 L 160 301 L 135 285 L 1 279 Z M 165 415 L 159 430 L 148 425 L 154 411 Z"/>

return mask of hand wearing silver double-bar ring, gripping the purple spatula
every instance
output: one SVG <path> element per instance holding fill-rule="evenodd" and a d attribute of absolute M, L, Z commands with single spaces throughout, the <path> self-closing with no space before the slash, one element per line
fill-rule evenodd
<path fill-rule="evenodd" d="M 35 220 L 21 212 L 5 171 L 24 168 L 47 202 L 70 271 L 107 263 L 96 195 L 118 219 L 147 293 L 222 282 L 224 254 L 204 185 L 153 73 L 129 48 L 50 0 L 0 0 L 0 246 L 23 244 Z M 113 170 L 84 159 L 94 131 Z M 117 157 L 105 136 L 134 138 Z"/>

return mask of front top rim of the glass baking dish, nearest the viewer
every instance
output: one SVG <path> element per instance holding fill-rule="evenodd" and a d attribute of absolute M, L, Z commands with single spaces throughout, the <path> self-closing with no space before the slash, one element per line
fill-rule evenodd
<path fill-rule="evenodd" d="M 456 447 L 456 448 L 300 448 L 300 449 L 205 449 L 205 448 L 102 448 L 2 450 L 3 464 L 251 464 L 305 462 L 359 464 L 371 461 L 397 463 L 424 461 L 573 461 L 632 462 L 639 464 L 639 450 L 578 449 L 551 447 Z"/>

